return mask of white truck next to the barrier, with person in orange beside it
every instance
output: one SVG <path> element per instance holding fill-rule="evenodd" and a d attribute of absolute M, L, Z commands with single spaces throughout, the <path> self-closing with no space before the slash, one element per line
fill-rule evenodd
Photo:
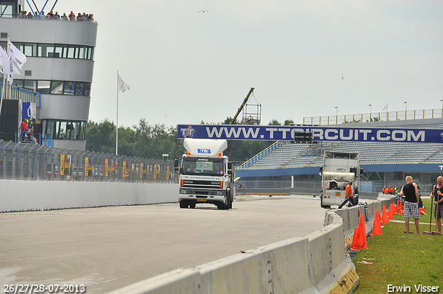
<path fill-rule="evenodd" d="M 323 167 L 320 167 L 320 205 L 331 208 L 345 200 L 345 188 L 352 181 L 352 197 L 359 203 L 359 180 L 363 176 L 359 152 L 325 151 Z"/>

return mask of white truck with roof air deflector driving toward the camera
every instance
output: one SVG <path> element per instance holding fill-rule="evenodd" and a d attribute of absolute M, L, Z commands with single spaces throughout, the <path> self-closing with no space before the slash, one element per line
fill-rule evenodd
<path fill-rule="evenodd" d="M 180 208 L 195 208 L 197 203 L 211 203 L 219 210 L 232 208 L 235 199 L 234 170 L 223 151 L 226 140 L 185 138 L 186 154 L 177 158 Z"/>

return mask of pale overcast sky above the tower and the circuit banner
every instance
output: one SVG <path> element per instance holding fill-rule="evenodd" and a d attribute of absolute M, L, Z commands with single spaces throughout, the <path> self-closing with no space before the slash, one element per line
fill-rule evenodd
<path fill-rule="evenodd" d="M 98 22 L 95 122 L 116 122 L 117 71 L 130 87 L 118 94 L 123 127 L 223 122 L 251 87 L 262 125 L 443 107 L 443 1 L 61 0 L 54 10 Z"/>

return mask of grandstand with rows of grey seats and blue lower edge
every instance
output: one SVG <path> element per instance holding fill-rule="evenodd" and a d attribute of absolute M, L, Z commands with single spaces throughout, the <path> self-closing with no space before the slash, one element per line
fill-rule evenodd
<path fill-rule="evenodd" d="M 443 129 L 443 118 L 356 122 L 352 127 Z M 260 179 L 260 185 L 267 181 L 273 181 L 273 185 L 275 181 L 282 181 L 286 187 L 294 186 L 294 177 L 296 182 L 319 183 L 321 179 L 318 172 L 323 165 L 325 150 L 360 153 L 363 182 L 370 182 L 366 192 L 378 192 L 383 185 L 401 187 L 404 185 L 404 177 L 412 174 L 414 181 L 422 185 L 422 192 L 425 193 L 431 190 L 437 176 L 443 172 L 443 141 L 442 144 L 351 141 L 294 144 L 278 141 L 237 166 L 236 176 L 245 183 L 251 183 L 253 187 L 257 187 L 257 179 Z"/>

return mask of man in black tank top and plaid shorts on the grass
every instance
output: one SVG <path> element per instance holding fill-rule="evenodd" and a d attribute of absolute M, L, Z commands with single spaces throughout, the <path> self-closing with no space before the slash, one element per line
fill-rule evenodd
<path fill-rule="evenodd" d="M 401 188 L 400 196 L 405 196 L 404 199 L 404 224 L 406 226 L 406 234 L 413 234 L 413 232 L 409 232 L 409 217 L 410 214 L 413 215 L 415 221 L 415 228 L 417 229 L 417 234 L 420 234 L 419 228 L 419 210 L 418 210 L 418 189 L 417 184 L 413 183 L 412 176 L 406 176 L 406 185 Z"/>

